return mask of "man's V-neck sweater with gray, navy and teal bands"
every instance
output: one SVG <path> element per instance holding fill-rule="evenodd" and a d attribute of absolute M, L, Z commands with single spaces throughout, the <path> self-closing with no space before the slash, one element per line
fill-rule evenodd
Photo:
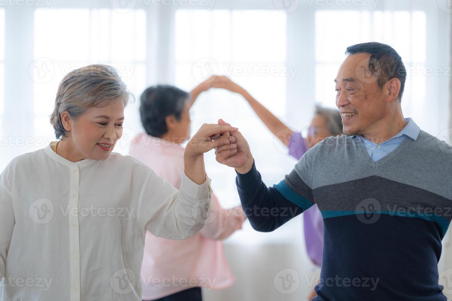
<path fill-rule="evenodd" d="M 420 131 L 378 161 L 342 135 L 311 148 L 273 187 L 237 173 L 242 207 L 269 232 L 317 204 L 323 264 L 313 301 L 445 301 L 441 241 L 452 217 L 452 147 Z"/>

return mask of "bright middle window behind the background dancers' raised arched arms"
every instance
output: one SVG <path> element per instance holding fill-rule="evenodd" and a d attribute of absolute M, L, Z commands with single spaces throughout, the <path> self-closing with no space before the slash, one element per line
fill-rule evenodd
<path fill-rule="evenodd" d="M 175 13 L 175 85 L 190 91 L 212 74 L 227 75 L 244 87 L 276 116 L 286 114 L 286 84 L 291 73 L 286 63 L 287 15 L 276 10 L 196 10 Z M 268 22 L 271 20 L 271 22 Z M 292 70 L 291 70 L 292 71 Z M 287 149 L 255 115 L 243 97 L 226 90 L 202 93 L 191 109 L 191 134 L 202 123 L 219 118 L 237 126 L 248 140 L 264 182 L 278 183 L 293 167 Z M 272 158 L 272 164 L 268 162 Z M 224 208 L 240 204 L 235 186 L 235 170 L 216 162 L 215 154 L 205 154 L 212 189 Z M 301 232 L 300 220 L 292 222 Z M 234 236 L 243 243 L 288 241 L 294 232 L 256 233 L 245 224 L 245 233 Z M 234 240 L 235 241 L 235 240 Z"/>

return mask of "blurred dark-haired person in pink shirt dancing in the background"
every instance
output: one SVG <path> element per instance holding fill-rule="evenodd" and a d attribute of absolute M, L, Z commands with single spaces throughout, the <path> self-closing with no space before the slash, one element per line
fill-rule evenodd
<path fill-rule="evenodd" d="M 190 136 L 189 109 L 213 81 L 208 79 L 191 93 L 174 86 L 159 85 L 147 88 L 141 94 L 141 122 L 146 133 L 139 134 L 132 142 L 130 155 L 176 188 L 181 185 L 184 170 L 181 144 Z M 241 206 L 225 210 L 212 194 L 206 225 L 192 237 L 170 241 L 146 232 L 141 269 L 142 299 L 201 301 L 201 287 L 209 290 L 231 287 L 235 277 L 222 240 L 241 229 L 245 218 Z M 170 280 L 172 278 L 174 281 Z M 155 282 L 155 279 L 160 281 Z"/>

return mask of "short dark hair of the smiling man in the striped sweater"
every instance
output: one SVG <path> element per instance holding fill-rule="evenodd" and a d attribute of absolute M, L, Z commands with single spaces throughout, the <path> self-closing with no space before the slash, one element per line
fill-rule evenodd
<path fill-rule="evenodd" d="M 383 88 L 385 83 L 390 79 L 400 80 L 399 101 L 402 101 L 403 90 L 405 88 L 406 69 L 402 58 L 397 51 L 389 45 L 368 42 L 348 46 L 345 51 L 346 55 L 369 53 L 369 71 L 373 76 L 377 76 L 378 87 Z"/>

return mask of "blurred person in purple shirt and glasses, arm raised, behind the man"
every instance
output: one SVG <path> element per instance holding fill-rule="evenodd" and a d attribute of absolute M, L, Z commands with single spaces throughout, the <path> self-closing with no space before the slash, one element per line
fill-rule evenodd
<path fill-rule="evenodd" d="M 314 118 L 311 120 L 305 139 L 301 133 L 287 127 L 278 117 L 274 116 L 272 112 L 254 99 L 250 93 L 226 76 L 218 76 L 212 82 L 212 86 L 214 88 L 224 88 L 243 96 L 260 120 L 267 126 L 268 130 L 288 148 L 289 155 L 297 160 L 300 160 L 308 149 L 326 137 L 342 134 L 342 117 L 338 110 L 315 107 Z M 320 267 L 323 251 L 323 219 L 316 204 L 309 208 L 306 213 L 303 213 L 303 230 L 308 256 L 313 264 Z M 315 292 L 312 290 L 308 300 L 315 296 Z"/>

